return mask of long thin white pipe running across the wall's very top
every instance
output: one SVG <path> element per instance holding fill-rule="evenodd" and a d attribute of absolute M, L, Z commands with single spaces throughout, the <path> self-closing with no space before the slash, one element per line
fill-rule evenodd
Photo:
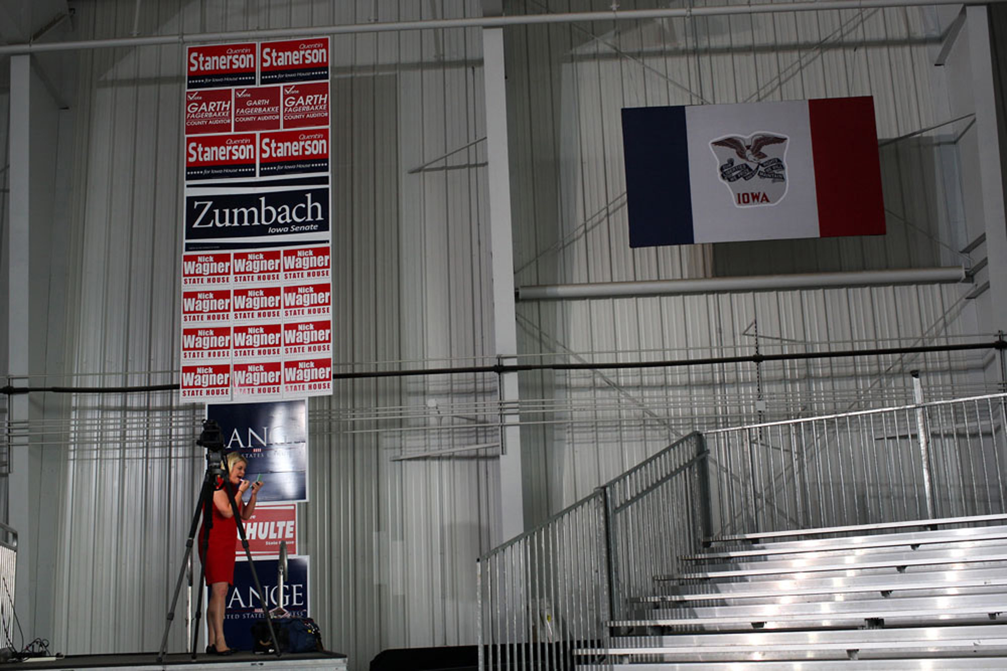
<path fill-rule="evenodd" d="M 692 7 L 675 9 L 627 9 L 609 12 L 565 12 L 555 14 L 521 14 L 517 16 L 466 16 L 452 19 L 424 19 L 418 21 L 386 21 L 375 23 L 349 23 L 345 25 L 308 26 L 300 28 L 275 28 L 270 30 L 235 30 L 230 32 L 204 32 L 150 37 L 122 37 L 66 42 L 22 43 L 0 45 L 0 55 L 36 53 L 40 51 L 73 51 L 119 46 L 149 46 L 157 44 L 186 44 L 191 42 L 219 42 L 239 39 L 272 39 L 315 35 L 342 35 L 362 32 L 387 32 L 397 30 L 432 30 L 443 28 L 498 28 L 511 25 L 542 23 L 579 23 L 583 21 L 638 21 L 646 19 L 692 18 L 696 16 L 725 16 L 730 14 L 776 14 L 782 12 L 835 11 L 841 9 L 879 9 L 884 7 L 933 7 L 939 5 L 990 5 L 1007 0 L 824 0 L 823 2 L 780 2 L 757 5 L 721 5 L 717 7 Z"/>

